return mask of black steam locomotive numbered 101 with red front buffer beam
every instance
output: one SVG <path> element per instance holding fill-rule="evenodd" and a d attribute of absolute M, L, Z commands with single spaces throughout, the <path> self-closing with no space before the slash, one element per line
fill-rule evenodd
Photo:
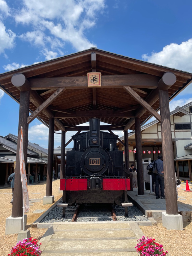
<path fill-rule="evenodd" d="M 70 205 L 115 203 L 121 205 L 130 190 L 125 177 L 123 151 L 117 135 L 101 132 L 100 120 L 89 120 L 90 131 L 72 136 L 74 147 L 67 151 L 65 178 L 60 180 L 64 201 Z"/>

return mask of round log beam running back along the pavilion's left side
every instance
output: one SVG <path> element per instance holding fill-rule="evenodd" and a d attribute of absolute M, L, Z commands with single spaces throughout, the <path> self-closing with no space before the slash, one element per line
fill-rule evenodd
<path fill-rule="evenodd" d="M 44 101 L 43 99 L 39 96 L 39 94 L 35 91 L 32 91 L 30 89 L 30 84 L 29 81 L 26 79 L 24 74 L 22 73 L 17 73 L 12 76 L 12 84 L 19 89 L 19 91 L 29 91 L 30 96 L 29 99 L 30 101 L 38 108 Z M 53 112 L 47 107 L 43 113 L 50 119 L 54 118 Z M 54 120 L 55 125 L 61 130 L 65 131 L 65 127 L 63 124 L 60 122 L 60 120 L 55 119 Z"/>

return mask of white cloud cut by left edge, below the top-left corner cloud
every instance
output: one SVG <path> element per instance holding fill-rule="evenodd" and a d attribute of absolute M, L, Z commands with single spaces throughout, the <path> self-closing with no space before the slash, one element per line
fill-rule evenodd
<path fill-rule="evenodd" d="M 0 54 L 5 49 L 12 49 L 15 46 L 16 34 L 8 29 L 6 30 L 4 24 L 0 21 Z"/>

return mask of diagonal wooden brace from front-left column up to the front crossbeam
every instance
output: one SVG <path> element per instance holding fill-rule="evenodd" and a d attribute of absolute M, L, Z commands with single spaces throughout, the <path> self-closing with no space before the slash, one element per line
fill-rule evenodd
<path fill-rule="evenodd" d="M 46 109 L 51 102 L 53 102 L 57 97 L 65 91 L 65 88 L 59 88 L 55 91 L 46 101 L 44 101 L 30 116 L 27 118 L 27 123 L 32 122 L 44 109 Z"/>

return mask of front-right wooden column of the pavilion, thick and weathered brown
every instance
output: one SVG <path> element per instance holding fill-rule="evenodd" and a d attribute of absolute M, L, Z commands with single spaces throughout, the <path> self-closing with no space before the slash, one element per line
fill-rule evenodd
<path fill-rule="evenodd" d="M 169 111 L 169 95 L 168 90 L 159 90 L 159 105 L 162 136 L 162 152 L 163 152 L 163 169 L 166 191 L 166 213 L 169 215 L 177 215 L 177 195 L 175 186 L 175 166 L 173 143 L 171 135 L 170 111 Z"/>

